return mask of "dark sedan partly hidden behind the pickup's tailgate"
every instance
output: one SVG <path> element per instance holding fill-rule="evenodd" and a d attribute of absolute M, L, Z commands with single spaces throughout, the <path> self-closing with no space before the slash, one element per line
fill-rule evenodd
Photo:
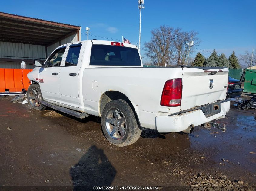
<path fill-rule="evenodd" d="M 228 93 L 227 98 L 241 96 L 243 89 L 241 89 L 241 81 L 228 76 Z"/>

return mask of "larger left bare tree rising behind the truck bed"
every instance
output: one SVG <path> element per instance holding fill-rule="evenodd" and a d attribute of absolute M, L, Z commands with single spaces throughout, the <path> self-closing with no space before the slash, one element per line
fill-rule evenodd
<path fill-rule="evenodd" d="M 174 40 L 178 31 L 179 29 L 165 25 L 151 30 L 150 42 L 146 42 L 143 49 L 154 65 L 168 66 L 172 62 L 175 51 Z"/>

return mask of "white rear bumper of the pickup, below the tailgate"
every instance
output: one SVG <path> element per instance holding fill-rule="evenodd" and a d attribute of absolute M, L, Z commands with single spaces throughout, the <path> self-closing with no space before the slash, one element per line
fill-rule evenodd
<path fill-rule="evenodd" d="M 181 113 L 176 116 L 157 116 L 156 129 L 158 132 L 180 132 L 188 126 L 198 126 L 214 119 L 225 118 L 230 109 L 230 101 L 221 103 L 221 112 L 210 117 L 206 117 L 201 109 Z"/>

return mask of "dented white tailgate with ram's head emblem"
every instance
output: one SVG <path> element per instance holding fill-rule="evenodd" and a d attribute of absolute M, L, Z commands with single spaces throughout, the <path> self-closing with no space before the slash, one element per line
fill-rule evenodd
<path fill-rule="evenodd" d="M 228 68 L 182 68 L 181 110 L 224 100 L 228 85 Z"/>

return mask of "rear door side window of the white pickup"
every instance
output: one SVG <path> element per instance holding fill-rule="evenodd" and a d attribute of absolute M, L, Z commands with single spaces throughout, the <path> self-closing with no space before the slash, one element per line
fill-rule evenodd
<path fill-rule="evenodd" d="M 79 59 L 81 44 L 69 46 L 68 55 L 65 61 L 65 66 L 76 66 Z"/>

